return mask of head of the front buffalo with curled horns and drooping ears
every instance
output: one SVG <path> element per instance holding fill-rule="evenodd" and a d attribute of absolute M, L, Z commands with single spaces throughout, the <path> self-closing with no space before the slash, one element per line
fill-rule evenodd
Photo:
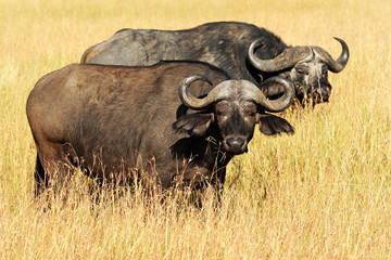
<path fill-rule="evenodd" d="M 174 129 L 190 135 L 209 135 L 219 142 L 220 148 L 231 155 L 248 151 L 255 123 L 265 134 L 292 133 L 292 126 L 285 119 L 265 112 L 281 112 L 289 107 L 293 98 L 293 86 L 288 80 L 275 77 L 267 82 L 278 83 L 283 94 L 277 100 L 267 100 L 263 92 L 248 80 L 226 80 L 199 99 L 189 93 L 188 87 L 195 80 L 212 82 L 201 76 L 188 77 L 179 87 L 182 103 L 198 113 L 181 116 Z M 267 83 L 266 82 L 266 83 Z"/>

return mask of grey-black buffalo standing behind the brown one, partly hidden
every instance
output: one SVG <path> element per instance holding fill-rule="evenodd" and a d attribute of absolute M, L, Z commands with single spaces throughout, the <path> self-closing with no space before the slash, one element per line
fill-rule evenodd
<path fill-rule="evenodd" d="M 219 22 L 185 30 L 123 29 L 85 51 L 81 63 L 152 65 L 163 60 L 190 60 L 224 69 L 232 79 L 247 79 L 261 87 L 263 80 L 280 76 L 292 81 L 298 100 L 328 102 L 328 70 L 340 73 L 349 60 L 348 44 L 337 60 L 319 47 L 288 47 L 279 37 L 255 25 Z M 263 84 L 267 95 L 282 88 Z"/>

